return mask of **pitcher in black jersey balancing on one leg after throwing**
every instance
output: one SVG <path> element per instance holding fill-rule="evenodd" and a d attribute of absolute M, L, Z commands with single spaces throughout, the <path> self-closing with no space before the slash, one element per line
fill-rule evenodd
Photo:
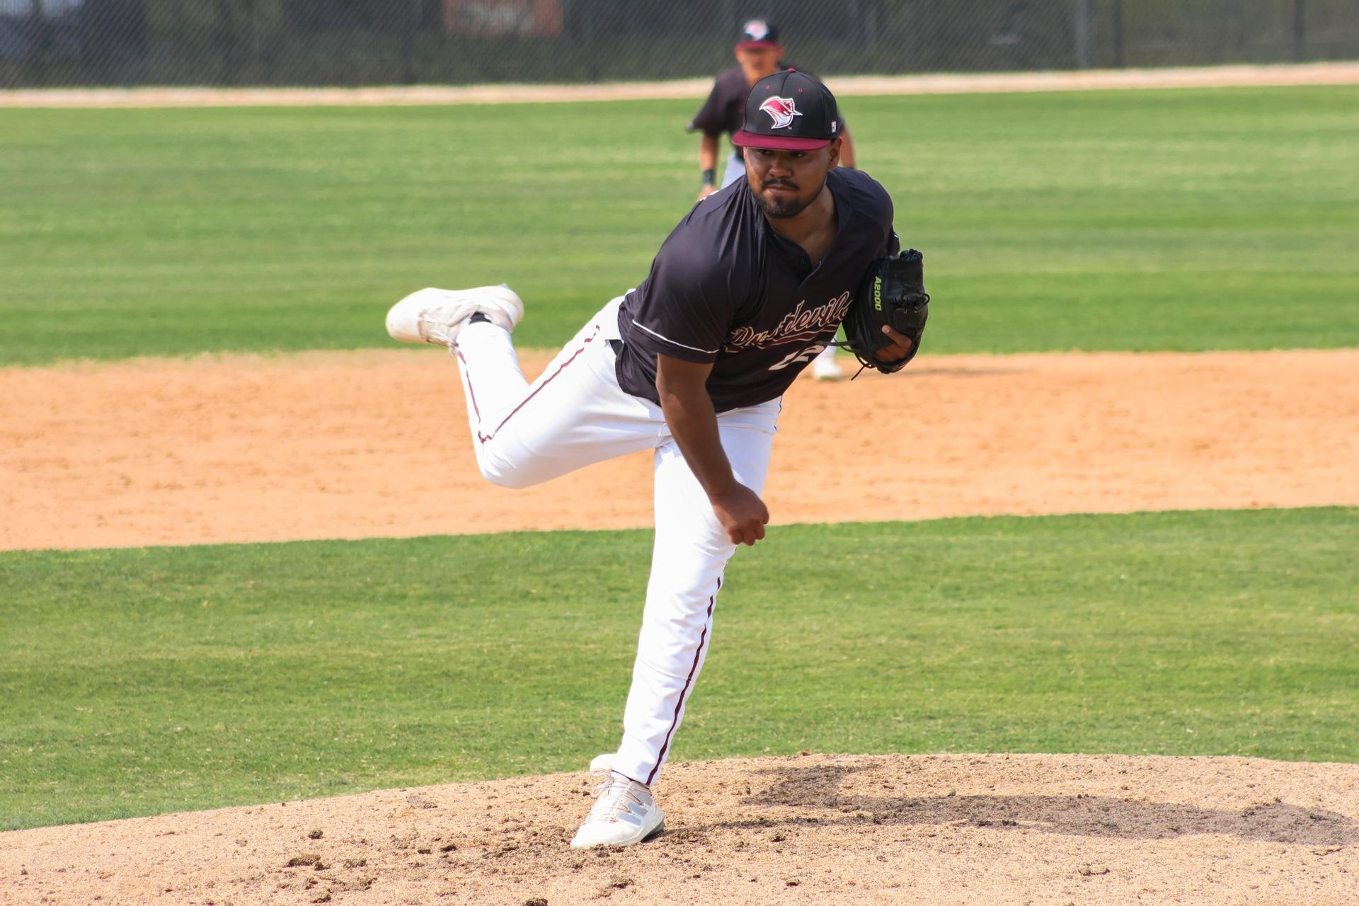
<path fill-rule="evenodd" d="M 749 94 L 746 179 L 696 205 L 636 289 L 609 302 L 529 384 L 508 287 L 421 289 L 387 331 L 458 361 L 473 448 L 492 482 L 525 488 L 654 451 L 655 554 L 616 753 L 572 846 L 628 845 L 663 823 L 651 797 L 703 668 L 722 576 L 737 545 L 765 537 L 760 499 L 787 387 L 833 337 L 870 265 L 897 251 L 887 193 L 836 170 L 834 96 L 779 72 Z M 883 327 L 881 361 L 911 340 Z M 606 772 L 606 773 L 605 773 Z"/>

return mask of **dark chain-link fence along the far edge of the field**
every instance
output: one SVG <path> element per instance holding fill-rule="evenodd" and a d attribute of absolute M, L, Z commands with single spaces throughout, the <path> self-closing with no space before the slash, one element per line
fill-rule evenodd
<path fill-rule="evenodd" d="M 826 73 L 1359 57 L 1359 0 L 0 0 L 0 88 L 703 76 L 754 16 Z"/>

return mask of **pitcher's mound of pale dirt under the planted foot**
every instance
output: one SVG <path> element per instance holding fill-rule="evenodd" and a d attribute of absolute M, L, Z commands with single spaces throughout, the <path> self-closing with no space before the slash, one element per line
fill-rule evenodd
<path fill-rule="evenodd" d="M 7 903 L 1354 903 L 1359 765 L 915 755 L 671 765 L 567 841 L 553 774 L 0 834 Z"/>

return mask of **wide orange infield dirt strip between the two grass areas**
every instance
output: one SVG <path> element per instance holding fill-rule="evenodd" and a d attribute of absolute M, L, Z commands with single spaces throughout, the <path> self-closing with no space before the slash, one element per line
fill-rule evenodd
<path fill-rule="evenodd" d="M 765 496 L 775 524 L 1356 505 L 1356 374 L 1359 350 L 1307 350 L 803 378 Z M 487 484 L 432 349 L 8 368 L 0 398 L 0 549 L 651 524 L 647 454 Z"/>

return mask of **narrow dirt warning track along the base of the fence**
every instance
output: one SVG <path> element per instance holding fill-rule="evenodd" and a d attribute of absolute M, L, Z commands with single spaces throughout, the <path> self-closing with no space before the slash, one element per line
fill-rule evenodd
<path fill-rule="evenodd" d="M 1055 72 L 826 76 L 840 96 L 1121 88 L 1359 84 L 1359 62 L 1167 67 Z M 712 79 L 598 84 L 376 86 L 368 88 L 31 88 L 0 91 L 0 107 L 291 107 L 544 103 L 703 98 Z"/>

